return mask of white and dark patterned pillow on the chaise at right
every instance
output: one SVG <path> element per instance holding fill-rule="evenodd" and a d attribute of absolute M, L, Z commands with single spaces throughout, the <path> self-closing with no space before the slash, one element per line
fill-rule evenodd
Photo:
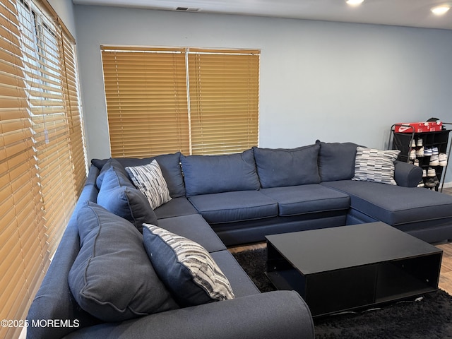
<path fill-rule="evenodd" d="M 355 157 L 355 176 L 352 180 L 379 182 L 396 185 L 394 180 L 394 162 L 400 150 L 376 150 L 357 147 Z"/>

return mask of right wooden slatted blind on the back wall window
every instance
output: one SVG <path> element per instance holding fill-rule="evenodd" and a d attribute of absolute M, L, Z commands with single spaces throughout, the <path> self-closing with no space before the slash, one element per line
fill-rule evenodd
<path fill-rule="evenodd" d="M 188 59 L 192 153 L 257 145 L 259 55 L 191 49 Z"/>

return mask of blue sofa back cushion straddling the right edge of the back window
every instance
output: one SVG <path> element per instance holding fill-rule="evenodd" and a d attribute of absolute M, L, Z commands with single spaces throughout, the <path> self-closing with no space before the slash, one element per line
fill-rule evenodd
<path fill-rule="evenodd" d="M 319 145 L 299 148 L 254 147 L 257 173 L 263 189 L 319 184 Z"/>

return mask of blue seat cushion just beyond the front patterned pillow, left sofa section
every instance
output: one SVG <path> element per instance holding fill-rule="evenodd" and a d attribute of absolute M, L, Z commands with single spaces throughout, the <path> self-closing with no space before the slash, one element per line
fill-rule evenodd
<path fill-rule="evenodd" d="M 199 214 L 161 219 L 158 226 L 197 242 L 209 252 L 226 249 L 212 227 Z"/>

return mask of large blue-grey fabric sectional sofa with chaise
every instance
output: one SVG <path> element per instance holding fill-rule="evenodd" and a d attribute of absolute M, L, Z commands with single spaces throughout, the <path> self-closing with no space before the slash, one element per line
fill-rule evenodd
<path fill-rule="evenodd" d="M 391 162 L 391 179 L 396 184 L 378 182 L 378 175 L 371 181 L 356 180 L 358 149 L 355 143 L 317 141 L 292 149 L 255 147 L 233 155 L 174 153 L 92 160 L 76 210 L 28 313 L 29 323 L 61 319 L 74 326 L 30 326 L 28 338 L 314 338 L 311 315 L 302 298 L 292 291 L 260 293 L 226 246 L 261 242 L 267 234 L 376 220 L 427 242 L 452 239 L 451 196 L 417 188 L 422 170 L 405 162 Z M 152 160 L 160 166 L 170 196 L 154 209 L 131 184 L 126 171 L 126 167 L 148 165 Z M 378 170 L 369 169 L 372 174 Z M 229 280 L 234 299 L 182 307 L 154 274 L 151 285 L 155 290 L 151 288 L 149 297 L 167 298 L 157 309 L 136 311 L 131 302 L 119 307 L 115 298 L 124 302 L 142 276 L 136 276 L 133 263 L 124 263 L 129 254 L 118 251 L 136 247 L 132 243 L 147 232 L 143 223 L 201 244 Z M 86 234 L 93 230 L 103 234 L 110 229 L 107 225 L 125 227 L 133 239 L 129 242 L 129 236 L 121 237 L 118 231 L 102 242 L 102 251 L 108 249 L 120 260 L 117 269 L 114 261 L 101 261 L 99 272 L 113 268 L 95 279 L 100 280 L 101 292 L 115 286 L 111 297 L 115 300 L 81 300 L 74 285 L 81 283 L 80 273 L 92 260 L 84 256 L 95 252 L 89 247 L 87 251 L 90 239 Z M 133 251 L 139 252 L 133 258 L 143 256 L 143 246 Z M 145 266 L 153 271 L 152 265 L 146 262 Z M 118 285 L 115 277 L 119 276 L 129 283 Z M 138 290 L 143 293 L 141 287 Z M 93 299 L 96 309 L 91 310 Z M 141 307 L 142 299 L 146 298 L 134 302 Z M 104 313 L 105 307 L 109 308 Z"/>

